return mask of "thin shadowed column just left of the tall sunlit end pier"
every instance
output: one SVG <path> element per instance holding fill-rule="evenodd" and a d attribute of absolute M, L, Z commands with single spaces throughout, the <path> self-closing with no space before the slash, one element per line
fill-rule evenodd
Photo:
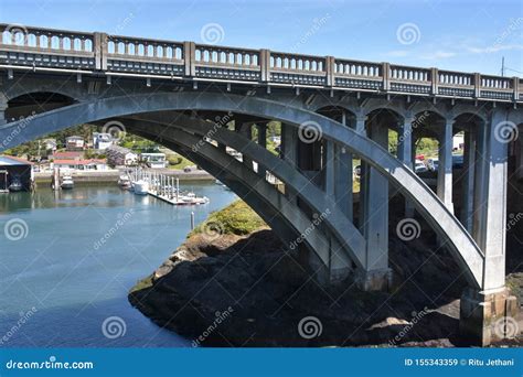
<path fill-rule="evenodd" d="M 474 213 L 474 170 L 476 170 L 476 132 L 467 130 L 465 132 L 465 155 L 462 176 L 462 203 L 461 203 L 461 224 L 472 234 L 473 213 Z"/>

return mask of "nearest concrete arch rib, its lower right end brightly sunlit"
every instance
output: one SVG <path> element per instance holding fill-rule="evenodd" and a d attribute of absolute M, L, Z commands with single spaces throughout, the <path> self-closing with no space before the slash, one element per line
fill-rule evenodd
<path fill-rule="evenodd" d="M 140 104 L 136 106 L 134 104 Z M 364 136 L 327 117 L 280 105 L 276 101 L 237 95 L 216 95 L 213 93 L 156 93 L 132 96 L 105 98 L 96 101 L 71 105 L 34 116 L 22 132 L 21 121 L 0 127 L 0 136 L 8 143 L 1 150 L 14 147 L 38 136 L 64 129 L 73 125 L 92 122 L 100 119 L 120 117 L 132 114 L 160 110 L 228 110 L 238 114 L 254 115 L 263 118 L 278 119 L 293 127 L 306 121 L 317 122 L 322 136 L 332 142 L 357 153 L 365 162 L 385 175 L 404 195 L 416 205 L 418 212 L 427 219 L 436 233 L 448 240 L 448 245 L 466 272 L 469 282 L 482 287 L 484 257 L 472 237 L 430 190 L 388 151 Z"/>

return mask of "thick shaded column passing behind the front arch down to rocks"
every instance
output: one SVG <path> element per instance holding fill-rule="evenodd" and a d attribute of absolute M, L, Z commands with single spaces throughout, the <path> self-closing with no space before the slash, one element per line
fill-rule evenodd
<path fill-rule="evenodd" d="M 382 147 L 388 147 L 388 128 L 370 125 L 367 134 Z M 360 228 L 366 240 L 364 270 L 356 271 L 356 283 L 365 291 L 387 290 L 392 283 L 388 268 L 388 181 L 375 169 L 362 163 Z"/>

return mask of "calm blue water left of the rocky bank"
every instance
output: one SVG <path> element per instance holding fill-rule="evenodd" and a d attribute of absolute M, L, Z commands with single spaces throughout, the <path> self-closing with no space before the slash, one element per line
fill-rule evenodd
<path fill-rule="evenodd" d="M 181 186 L 211 203 L 175 207 L 117 186 L 0 195 L 0 346 L 189 346 L 127 301 L 185 239 L 191 212 L 199 223 L 235 197 Z"/>

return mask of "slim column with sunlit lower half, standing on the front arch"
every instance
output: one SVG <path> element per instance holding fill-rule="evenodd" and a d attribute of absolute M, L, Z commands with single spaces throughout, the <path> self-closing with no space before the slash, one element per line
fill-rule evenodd
<path fill-rule="evenodd" d="M 439 166 L 437 193 L 441 202 L 453 213 L 452 203 L 452 125 L 448 119 L 439 134 Z"/>

